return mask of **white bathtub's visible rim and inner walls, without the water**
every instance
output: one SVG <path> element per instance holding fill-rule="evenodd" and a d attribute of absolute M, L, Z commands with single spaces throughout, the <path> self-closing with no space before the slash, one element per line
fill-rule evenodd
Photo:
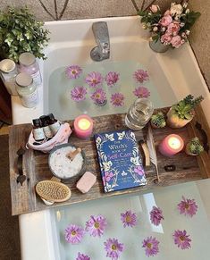
<path fill-rule="evenodd" d="M 13 124 L 31 122 L 32 119 L 44 113 L 52 112 L 51 109 L 49 110 L 49 107 L 52 106 L 49 96 L 55 95 L 55 93 L 51 92 L 49 83 L 54 71 L 73 63 L 93 63 L 89 53 L 92 47 L 96 46 L 91 29 L 94 21 L 106 21 L 108 24 L 111 44 L 110 61 L 140 62 L 150 72 L 155 89 L 162 98 L 161 103 L 156 106 L 172 105 L 189 93 L 194 96 L 203 95 L 205 100 L 202 102 L 202 107 L 210 125 L 209 92 L 189 44 L 185 44 L 178 50 L 169 50 L 165 54 L 154 53 L 148 46 L 148 35 L 145 30 L 141 29 L 139 17 L 46 22 L 46 28 L 51 31 L 51 40 L 45 50 L 47 60 L 39 61 L 43 77 L 43 86 L 38 88 L 39 104 L 36 108 L 28 109 L 21 106 L 17 96 L 13 96 Z M 98 66 L 102 63 L 98 63 Z M 108 113 L 112 113 L 112 111 Z M 73 116 L 74 113 L 66 113 L 63 119 L 71 119 Z M 206 203 L 206 189 L 203 187 L 209 188 L 210 182 L 208 180 L 206 182 L 197 181 L 194 185 L 202 197 L 209 218 L 210 208 Z M 55 235 L 54 214 L 55 211 L 49 209 L 20 215 L 21 257 L 23 260 L 61 259 L 58 239 Z"/>

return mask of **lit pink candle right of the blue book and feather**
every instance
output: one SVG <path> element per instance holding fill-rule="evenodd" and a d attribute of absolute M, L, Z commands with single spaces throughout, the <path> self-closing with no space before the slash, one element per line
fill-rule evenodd
<path fill-rule="evenodd" d="M 169 135 L 160 143 L 159 152 L 165 156 L 172 156 L 179 153 L 184 147 L 183 139 L 175 134 Z"/>

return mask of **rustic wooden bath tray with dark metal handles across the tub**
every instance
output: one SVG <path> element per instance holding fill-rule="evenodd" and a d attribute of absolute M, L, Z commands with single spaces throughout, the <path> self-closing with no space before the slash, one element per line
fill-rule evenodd
<path fill-rule="evenodd" d="M 166 112 L 167 108 L 161 110 Z M 124 124 L 124 116 L 125 114 L 121 113 L 95 117 L 94 133 L 108 130 L 126 129 Z M 71 123 L 72 122 L 70 122 L 70 124 Z M 36 195 L 35 185 L 39 180 L 49 180 L 53 176 L 47 164 L 48 155 L 42 154 L 38 151 L 27 150 L 27 152 L 23 155 L 22 163 L 23 174 L 26 175 L 26 180 L 23 182 L 22 186 L 20 183 L 17 183 L 17 151 L 21 146 L 25 146 L 29 138 L 30 130 L 31 124 L 21 124 L 10 127 L 10 185 L 13 215 L 26 214 L 52 206 L 71 205 L 101 197 L 112 197 L 119 194 L 134 193 L 147 189 L 160 188 L 162 186 L 178 184 L 190 180 L 201 180 L 210 177 L 210 156 L 208 152 L 206 152 L 208 149 L 207 137 L 209 138 L 210 136 L 209 129 L 207 127 L 204 114 L 201 108 L 198 107 L 197 115 L 186 127 L 178 130 L 172 130 L 169 127 L 165 127 L 162 130 L 153 130 L 155 147 L 158 146 L 159 142 L 166 135 L 177 133 L 185 140 L 185 142 L 189 138 L 193 138 L 195 136 L 203 139 L 203 141 L 206 142 L 206 151 L 199 156 L 189 156 L 182 151 L 178 155 L 172 156 L 172 158 L 166 158 L 163 155 L 160 155 L 156 149 L 160 181 L 156 183 L 155 167 L 151 165 L 145 169 L 147 174 L 147 185 L 144 187 L 104 193 L 100 177 L 99 164 L 97 163 L 97 150 L 93 137 L 86 140 L 81 140 L 72 134 L 69 142 L 83 148 L 87 156 L 87 171 L 97 174 L 97 182 L 87 194 L 81 194 L 75 187 L 77 181 L 77 178 L 75 177 L 70 183 L 67 184 L 71 189 L 71 198 L 68 201 L 60 204 L 45 205 Z M 142 138 L 145 139 L 146 130 L 135 131 L 135 135 L 138 140 Z M 168 164 L 175 164 L 176 171 L 165 172 L 164 166 Z"/>

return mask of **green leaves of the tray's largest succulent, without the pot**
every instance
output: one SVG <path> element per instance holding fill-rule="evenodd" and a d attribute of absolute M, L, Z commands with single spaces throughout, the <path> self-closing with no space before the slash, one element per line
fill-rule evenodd
<path fill-rule="evenodd" d="M 204 99 L 203 96 L 198 96 L 194 99 L 194 96 L 188 95 L 182 99 L 178 104 L 172 105 L 173 114 L 178 115 L 180 119 L 191 119 L 194 115 L 194 108 Z"/>

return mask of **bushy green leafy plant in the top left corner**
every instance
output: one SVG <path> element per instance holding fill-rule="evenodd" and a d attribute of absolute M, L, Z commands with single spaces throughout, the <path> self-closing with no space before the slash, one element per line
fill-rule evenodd
<path fill-rule="evenodd" d="M 47 46 L 49 31 L 43 28 L 27 7 L 8 7 L 0 12 L 0 50 L 2 58 L 18 62 L 19 55 L 29 52 L 46 59 L 43 49 Z"/>

